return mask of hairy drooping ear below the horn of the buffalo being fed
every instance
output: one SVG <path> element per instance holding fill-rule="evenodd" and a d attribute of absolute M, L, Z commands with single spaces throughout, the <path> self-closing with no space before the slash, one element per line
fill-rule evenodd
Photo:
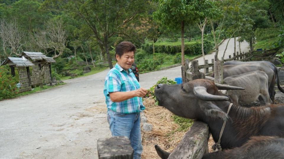
<path fill-rule="evenodd" d="M 204 111 L 207 116 L 210 116 L 212 118 L 220 118 L 223 121 L 227 121 L 227 119 L 229 118 L 226 112 L 221 110 L 212 102 L 200 101 L 199 105 L 201 110 Z"/>

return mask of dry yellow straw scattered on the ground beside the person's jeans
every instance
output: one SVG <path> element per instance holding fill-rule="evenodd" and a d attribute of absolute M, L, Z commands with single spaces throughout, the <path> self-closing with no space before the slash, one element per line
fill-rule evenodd
<path fill-rule="evenodd" d="M 160 159 L 154 145 L 158 144 L 164 150 L 172 152 L 187 131 L 176 131 L 178 125 L 171 118 L 173 114 L 164 107 L 154 105 L 154 99 L 144 98 L 144 105 L 146 107 L 144 113 L 147 117 L 147 123 L 152 124 L 153 129 L 150 132 L 145 132 L 141 128 L 143 145 L 141 158 Z"/>

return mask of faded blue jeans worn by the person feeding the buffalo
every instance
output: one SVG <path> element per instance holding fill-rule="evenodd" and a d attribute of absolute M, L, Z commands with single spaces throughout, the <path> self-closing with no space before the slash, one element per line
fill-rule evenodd
<path fill-rule="evenodd" d="M 107 121 L 112 136 L 126 136 L 134 150 L 133 159 L 140 159 L 142 153 L 140 113 L 124 114 L 109 110 Z"/>

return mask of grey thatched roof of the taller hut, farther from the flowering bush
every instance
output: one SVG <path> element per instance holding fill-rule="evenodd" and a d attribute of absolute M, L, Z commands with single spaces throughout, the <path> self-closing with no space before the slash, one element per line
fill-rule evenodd
<path fill-rule="evenodd" d="M 30 59 L 33 62 L 47 62 L 47 63 L 55 63 L 55 60 L 51 57 L 47 57 L 41 52 L 22 52 L 20 57 L 25 57 Z"/>

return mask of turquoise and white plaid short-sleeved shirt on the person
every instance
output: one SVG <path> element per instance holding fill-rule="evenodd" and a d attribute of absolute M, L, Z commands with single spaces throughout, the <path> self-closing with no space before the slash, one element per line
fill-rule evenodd
<path fill-rule="evenodd" d="M 128 73 L 129 72 L 129 73 Z M 125 71 L 119 64 L 116 64 L 106 76 L 104 81 L 104 96 L 106 107 L 119 113 L 136 113 L 145 109 L 141 97 L 133 97 L 122 102 L 112 102 L 109 97 L 111 92 L 129 92 L 137 90 L 140 85 L 131 69 Z"/>

